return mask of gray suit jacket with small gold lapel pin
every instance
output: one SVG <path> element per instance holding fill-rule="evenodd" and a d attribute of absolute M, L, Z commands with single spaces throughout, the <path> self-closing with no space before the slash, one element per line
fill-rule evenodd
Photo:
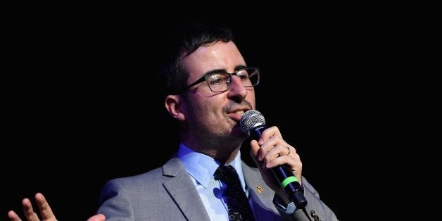
<path fill-rule="evenodd" d="M 274 191 L 267 187 L 259 170 L 244 162 L 242 167 L 258 220 L 308 221 L 302 210 L 291 215 L 280 213 L 273 204 Z M 262 191 L 258 191 L 258 187 Z M 337 220 L 304 177 L 303 187 L 309 215 L 310 210 L 315 210 L 320 220 Z M 191 177 L 178 158 L 170 159 L 162 168 L 106 182 L 97 213 L 106 215 L 106 220 L 210 220 Z"/>

